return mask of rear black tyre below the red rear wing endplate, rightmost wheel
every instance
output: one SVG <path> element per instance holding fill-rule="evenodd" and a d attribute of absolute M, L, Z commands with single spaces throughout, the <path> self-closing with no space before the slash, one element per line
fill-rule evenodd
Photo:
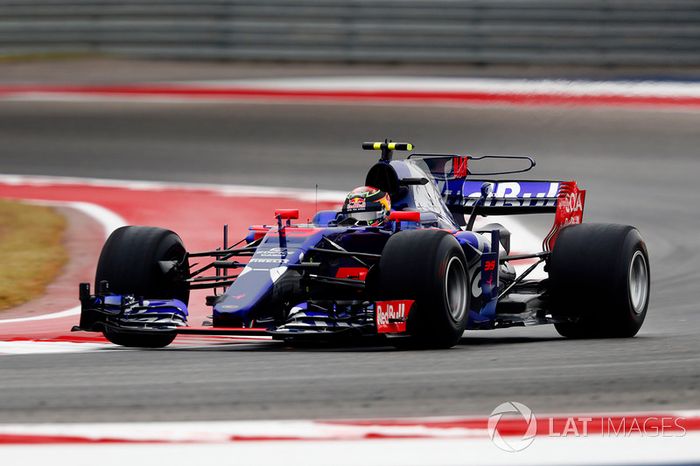
<path fill-rule="evenodd" d="M 568 338 L 629 338 L 649 307 L 649 255 L 628 225 L 581 224 L 563 229 L 549 261 L 555 324 Z"/>

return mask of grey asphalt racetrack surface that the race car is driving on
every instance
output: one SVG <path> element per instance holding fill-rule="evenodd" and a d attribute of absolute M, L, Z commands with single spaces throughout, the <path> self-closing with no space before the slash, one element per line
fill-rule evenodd
<path fill-rule="evenodd" d="M 588 221 L 636 225 L 652 266 L 637 338 L 467 332 L 449 351 L 281 345 L 4 357 L 0 422 L 487 415 L 700 406 L 700 113 L 291 104 L 0 105 L 0 172 L 351 189 L 374 154 L 526 153 L 589 190 Z M 192 213 L 196 221 L 196 212 Z M 576 299 L 576 297 L 572 297 Z"/>

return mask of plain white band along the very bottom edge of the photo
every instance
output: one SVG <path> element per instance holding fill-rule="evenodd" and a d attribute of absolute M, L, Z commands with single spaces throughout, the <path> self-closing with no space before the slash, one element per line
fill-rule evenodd
<path fill-rule="evenodd" d="M 681 439 L 541 439 L 509 453 L 489 440 L 368 440 L 157 445 L 20 445 L 0 447 L 3 464 L 52 466 L 465 466 L 698 464 L 700 435 Z"/>

